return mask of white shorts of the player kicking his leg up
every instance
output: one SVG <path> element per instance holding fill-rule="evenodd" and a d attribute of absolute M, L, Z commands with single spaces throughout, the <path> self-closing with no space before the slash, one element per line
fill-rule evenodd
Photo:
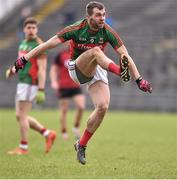
<path fill-rule="evenodd" d="M 77 78 L 76 70 L 75 70 L 75 61 L 69 62 L 68 71 L 69 71 L 69 75 L 70 75 L 71 79 L 73 81 L 75 81 L 76 83 L 80 84 L 79 79 Z M 96 81 L 103 81 L 105 84 L 108 84 L 107 71 L 104 70 L 99 65 L 97 65 L 96 73 L 95 73 L 93 79 L 90 80 L 89 82 L 85 83 L 85 84 L 90 86 L 93 83 L 95 83 Z"/>

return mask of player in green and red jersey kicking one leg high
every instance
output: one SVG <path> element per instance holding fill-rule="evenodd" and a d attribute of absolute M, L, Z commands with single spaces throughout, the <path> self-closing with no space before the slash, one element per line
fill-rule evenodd
<path fill-rule="evenodd" d="M 77 159 L 86 163 L 85 149 L 88 141 L 102 123 L 110 102 L 107 71 L 129 80 L 129 70 L 138 88 L 152 92 L 150 83 L 144 80 L 118 34 L 105 23 L 106 11 L 102 3 L 92 1 L 86 7 L 86 18 L 61 30 L 47 42 L 15 61 L 15 69 L 24 68 L 31 57 L 58 44 L 71 40 L 72 61 L 69 73 L 75 82 L 87 84 L 94 104 L 94 111 L 88 118 L 87 127 L 75 144 Z M 109 59 L 103 50 L 110 43 L 120 57 L 120 66 Z M 13 68 L 13 69 L 14 69 Z"/>

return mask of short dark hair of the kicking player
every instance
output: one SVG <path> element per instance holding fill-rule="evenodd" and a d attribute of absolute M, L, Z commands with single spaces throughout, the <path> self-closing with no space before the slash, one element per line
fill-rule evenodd
<path fill-rule="evenodd" d="M 104 6 L 104 4 L 102 4 L 100 2 L 91 1 L 86 6 L 86 14 L 89 16 L 92 15 L 94 8 L 98 8 L 99 10 L 102 10 L 102 9 L 105 9 L 105 6 Z"/>

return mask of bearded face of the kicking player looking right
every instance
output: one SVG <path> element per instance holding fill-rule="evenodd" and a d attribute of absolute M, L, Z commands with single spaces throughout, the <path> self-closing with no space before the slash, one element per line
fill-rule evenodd
<path fill-rule="evenodd" d="M 91 16 L 88 16 L 91 26 L 95 29 L 104 27 L 105 18 L 105 9 L 99 10 L 98 8 L 93 8 L 93 14 Z"/>

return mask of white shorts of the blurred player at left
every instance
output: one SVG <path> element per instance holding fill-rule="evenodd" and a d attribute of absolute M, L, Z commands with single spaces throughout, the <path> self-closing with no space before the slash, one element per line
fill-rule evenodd
<path fill-rule="evenodd" d="M 38 86 L 25 83 L 18 83 L 16 90 L 16 101 L 32 102 L 37 94 Z"/>

